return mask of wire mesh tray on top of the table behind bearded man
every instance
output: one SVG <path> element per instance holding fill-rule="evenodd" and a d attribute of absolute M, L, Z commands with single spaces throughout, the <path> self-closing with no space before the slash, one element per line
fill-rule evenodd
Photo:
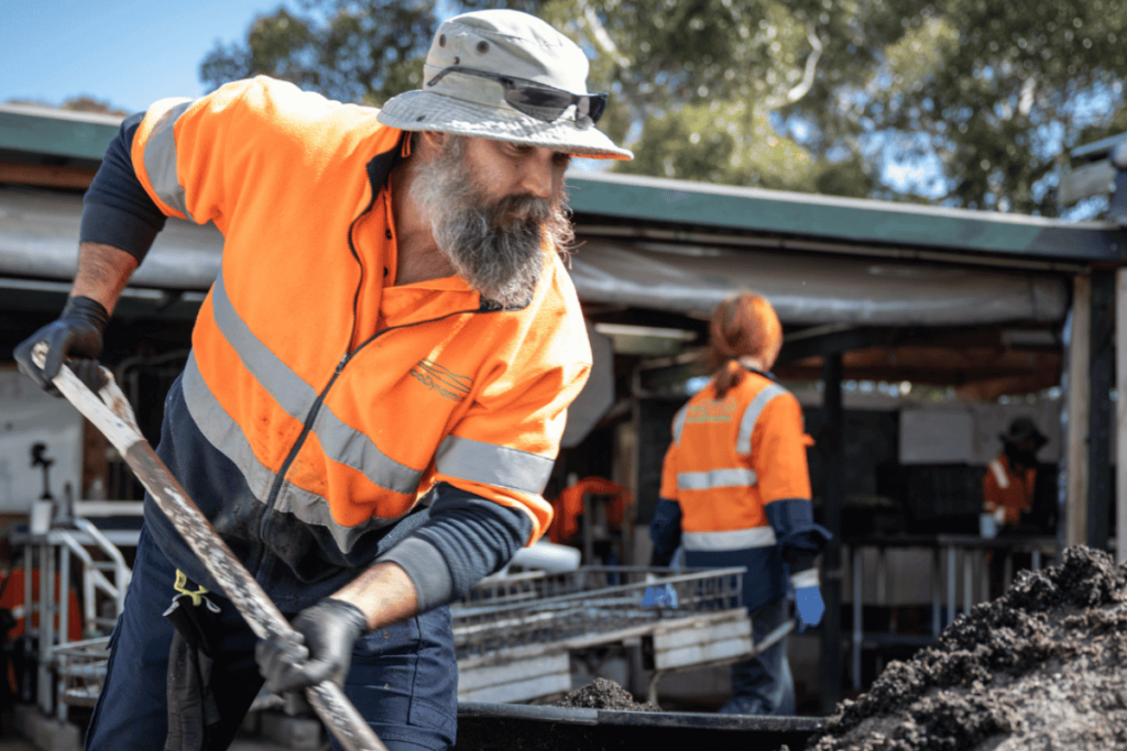
<path fill-rule="evenodd" d="M 743 607 L 745 569 L 584 566 L 487 579 L 451 607 L 464 659 Z M 662 597 L 647 597 L 655 590 Z"/>

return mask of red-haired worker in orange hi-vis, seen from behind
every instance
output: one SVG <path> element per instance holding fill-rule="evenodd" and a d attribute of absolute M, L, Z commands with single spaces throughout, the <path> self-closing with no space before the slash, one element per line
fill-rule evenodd
<path fill-rule="evenodd" d="M 751 293 L 725 301 L 709 339 L 712 378 L 673 421 L 650 562 L 667 565 L 680 545 L 689 566 L 745 566 L 760 642 L 786 623 L 790 589 L 799 631 L 820 623 L 814 564 L 831 534 L 814 522 L 801 408 L 770 374 L 782 346 L 771 304 Z M 724 714 L 795 714 L 786 640 L 733 665 L 731 685 Z"/>

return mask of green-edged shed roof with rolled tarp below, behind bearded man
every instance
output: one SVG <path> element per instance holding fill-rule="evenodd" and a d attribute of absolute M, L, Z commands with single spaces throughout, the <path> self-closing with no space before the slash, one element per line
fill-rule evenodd
<path fill-rule="evenodd" d="M 0 297 L 25 312 L 9 316 L 11 331 L 0 325 L 0 350 L 57 311 L 77 250 L 76 189 L 89 185 L 119 124 L 105 115 L 0 106 L 0 184 L 8 184 L 0 187 L 7 217 Z M 904 356 L 924 346 L 939 359 L 912 377 L 1017 383 L 1004 386 L 1011 392 L 1056 383 L 1059 341 L 1051 332 L 1067 311 L 1070 277 L 1127 263 L 1127 233 L 1108 222 L 611 173 L 568 178 L 584 241 L 571 275 L 588 319 L 701 333 L 716 302 L 737 288 L 757 289 L 788 325 L 792 376 L 829 351 L 869 357 L 846 361 L 848 377 L 863 367 L 882 373 L 889 361 L 923 361 Z M 115 332 L 124 339 L 132 325 L 152 337 L 153 325 L 163 324 L 169 342 L 184 339 L 221 248 L 214 227 L 169 222 L 118 305 Z M 1049 343 L 1015 349 L 1005 325 L 1041 341 L 1049 334 Z M 977 327 L 990 367 L 953 357 L 965 354 L 966 327 Z M 1022 356 L 1003 363 L 991 355 L 1003 351 Z"/>

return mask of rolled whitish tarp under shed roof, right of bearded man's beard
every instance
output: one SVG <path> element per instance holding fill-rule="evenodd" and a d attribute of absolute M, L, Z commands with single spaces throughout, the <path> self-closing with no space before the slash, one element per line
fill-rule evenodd
<path fill-rule="evenodd" d="M 584 302 L 700 316 L 749 289 L 786 323 L 1047 322 L 1068 305 L 1064 279 L 1028 271 L 657 243 L 585 243 L 571 277 Z"/>

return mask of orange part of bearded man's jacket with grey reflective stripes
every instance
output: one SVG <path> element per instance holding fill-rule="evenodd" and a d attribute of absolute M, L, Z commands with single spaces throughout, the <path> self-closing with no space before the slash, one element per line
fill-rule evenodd
<path fill-rule="evenodd" d="M 326 549 L 287 561 L 313 576 L 438 482 L 520 510 L 527 543 L 539 538 L 567 406 L 592 364 L 554 249 L 520 310 L 459 277 L 391 286 L 387 175 L 403 134 L 375 115 L 260 77 L 157 102 L 132 146 L 165 214 L 224 235 L 184 401 L 264 508 L 245 513 L 257 531 L 219 500 L 210 516 L 220 531 L 281 539 L 268 544 L 283 558 L 285 535 L 268 525 L 320 530 Z"/>

